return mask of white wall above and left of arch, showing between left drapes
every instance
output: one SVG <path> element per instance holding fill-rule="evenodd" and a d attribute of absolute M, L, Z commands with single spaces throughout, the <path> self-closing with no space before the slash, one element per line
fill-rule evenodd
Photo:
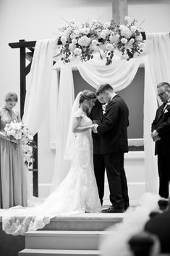
<path fill-rule="evenodd" d="M 128 4 L 129 17 L 145 20 L 146 33 L 169 32 L 169 0 L 128 0 Z M 55 38 L 58 28 L 66 24 L 64 20 L 74 18 L 82 23 L 101 17 L 105 22 L 111 15 L 111 0 L 0 0 L 0 106 L 7 91 L 20 94 L 20 51 L 11 49 L 9 42 Z M 49 149 L 47 123 L 48 116 L 39 133 L 40 183 L 51 183 L 53 175 L 54 151 Z"/>

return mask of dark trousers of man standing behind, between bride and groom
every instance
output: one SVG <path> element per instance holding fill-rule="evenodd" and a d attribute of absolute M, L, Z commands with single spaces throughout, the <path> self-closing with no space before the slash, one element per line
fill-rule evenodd
<path fill-rule="evenodd" d="M 103 154 L 93 154 L 93 163 L 95 170 L 95 179 L 98 186 L 98 194 L 103 205 L 104 196 L 104 174 L 105 174 L 105 163 Z"/>

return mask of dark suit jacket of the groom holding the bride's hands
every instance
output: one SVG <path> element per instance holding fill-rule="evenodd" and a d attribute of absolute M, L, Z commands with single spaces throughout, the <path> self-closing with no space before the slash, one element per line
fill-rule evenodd
<path fill-rule="evenodd" d="M 101 154 L 128 152 L 128 117 L 127 104 L 116 94 L 107 104 L 103 121 L 97 128 L 101 136 Z"/>

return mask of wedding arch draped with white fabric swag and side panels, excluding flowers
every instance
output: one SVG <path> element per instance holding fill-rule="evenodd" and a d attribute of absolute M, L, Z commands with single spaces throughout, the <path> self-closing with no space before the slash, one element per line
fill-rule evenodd
<path fill-rule="evenodd" d="M 13 45 L 12 45 L 13 44 Z M 154 143 L 150 138 L 150 123 L 153 121 L 157 108 L 156 84 L 161 81 L 170 82 L 170 38 L 169 33 L 146 34 L 146 49 L 143 57 L 126 60 L 113 59 L 106 66 L 101 59 L 90 59 L 89 62 L 72 62 L 54 64 L 55 40 L 12 43 L 10 46 L 20 47 L 25 52 L 28 47 L 34 51 L 30 66 L 30 79 L 27 85 L 23 120 L 34 134 L 43 120 L 46 106 L 50 105 L 50 137 L 51 144 L 56 145 L 53 187 L 57 186 L 69 170 L 69 162 L 63 160 L 64 146 L 67 139 L 67 128 L 72 103 L 75 98 L 72 70 L 77 68 L 82 78 L 96 88 L 100 83 L 111 83 L 115 91 L 129 86 L 141 63 L 145 66 L 144 90 L 144 147 L 146 191 L 158 191 L 158 172 Z M 18 45 L 17 45 L 18 44 Z M 35 49 L 33 49 L 35 46 Z M 24 53 L 26 54 L 26 52 Z M 31 55 L 31 54 L 30 54 Z M 24 61 L 23 61 L 24 62 Z M 22 63 L 22 62 L 21 62 Z M 22 63 L 23 64 L 23 63 Z M 60 70 L 60 78 L 58 70 Z M 21 77 L 22 80 L 22 77 Z M 41 95 L 41 97 L 40 97 Z M 22 103 L 23 101 L 21 101 Z M 63 104 L 67 102 L 67 104 Z M 23 104 L 23 103 L 22 103 Z M 23 106 L 22 106 L 23 107 Z M 37 177 L 38 178 L 38 177 Z M 38 195 L 38 194 L 37 194 Z"/>

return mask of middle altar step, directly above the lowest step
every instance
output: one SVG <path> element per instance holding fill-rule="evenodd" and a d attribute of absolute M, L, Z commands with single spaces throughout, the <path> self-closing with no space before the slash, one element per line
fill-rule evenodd
<path fill-rule="evenodd" d="M 27 249 L 98 249 L 99 236 L 107 231 L 30 231 L 25 234 Z"/>

